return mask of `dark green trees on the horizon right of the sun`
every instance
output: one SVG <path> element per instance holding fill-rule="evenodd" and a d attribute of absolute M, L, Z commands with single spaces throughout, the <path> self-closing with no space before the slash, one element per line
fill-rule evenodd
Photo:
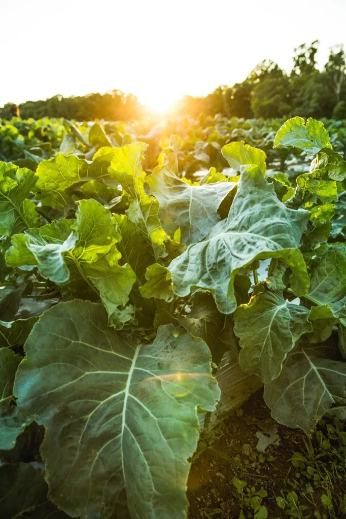
<path fill-rule="evenodd" d="M 293 69 L 286 74 L 264 60 L 242 83 L 220 86 L 204 98 L 186 96 L 181 113 L 228 117 L 326 117 L 346 119 L 346 64 L 342 45 L 330 49 L 327 63 L 316 66 L 318 40 L 294 49 Z"/>

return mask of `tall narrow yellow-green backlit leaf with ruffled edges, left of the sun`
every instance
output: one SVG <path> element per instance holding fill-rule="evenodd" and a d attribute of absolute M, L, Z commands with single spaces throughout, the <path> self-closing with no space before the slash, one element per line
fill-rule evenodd
<path fill-rule="evenodd" d="M 133 142 L 116 148 L 108 171 L 131 195 L 132 202 L 126 214 L 151 244 L 157 260 L 167 254 L 163 242 L 169 237 L 159 222 L 158 201 L 149 197 L 144 190 L 146 173 L 142 169 L 141 161 L 146 148 L 147 144 L 143 142 Z"/>

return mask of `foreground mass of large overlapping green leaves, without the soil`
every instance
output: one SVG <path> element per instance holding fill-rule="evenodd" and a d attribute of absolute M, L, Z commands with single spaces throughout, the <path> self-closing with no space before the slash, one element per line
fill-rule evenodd
<path fill-rule="evenodd" d="M 346 404 L 346 162 L 322 122 L 276 133 L 312 159 L 294 180 L 243 141 L 222 149 L 232 176 L 192 182 L 176 135 L 152 171 L 147 143 L 98 135 L 89 158 L 0 163 L 0 448 L 43 426 L 49 488 L 41 469 L 0 467 L 6 517 L 186 517 L 224 355 L 282 424 L 310 433 Z M 33 472 L 35 496 L 11 504 L 9 471 Z"/>

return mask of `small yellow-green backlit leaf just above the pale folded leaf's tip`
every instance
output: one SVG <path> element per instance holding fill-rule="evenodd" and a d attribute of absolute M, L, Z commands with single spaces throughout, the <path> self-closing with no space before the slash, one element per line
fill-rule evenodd
<path fill-rule="evenodd" d="M 241 171 L 241 166 L 255 164 L 262 173 L 266 172 L 266 158 L 262 149 L 253 148 L 244 141 L 231 142 L 222 148 L 222 154 L 229 163 L 230 167 L 236 171 Z"/>

